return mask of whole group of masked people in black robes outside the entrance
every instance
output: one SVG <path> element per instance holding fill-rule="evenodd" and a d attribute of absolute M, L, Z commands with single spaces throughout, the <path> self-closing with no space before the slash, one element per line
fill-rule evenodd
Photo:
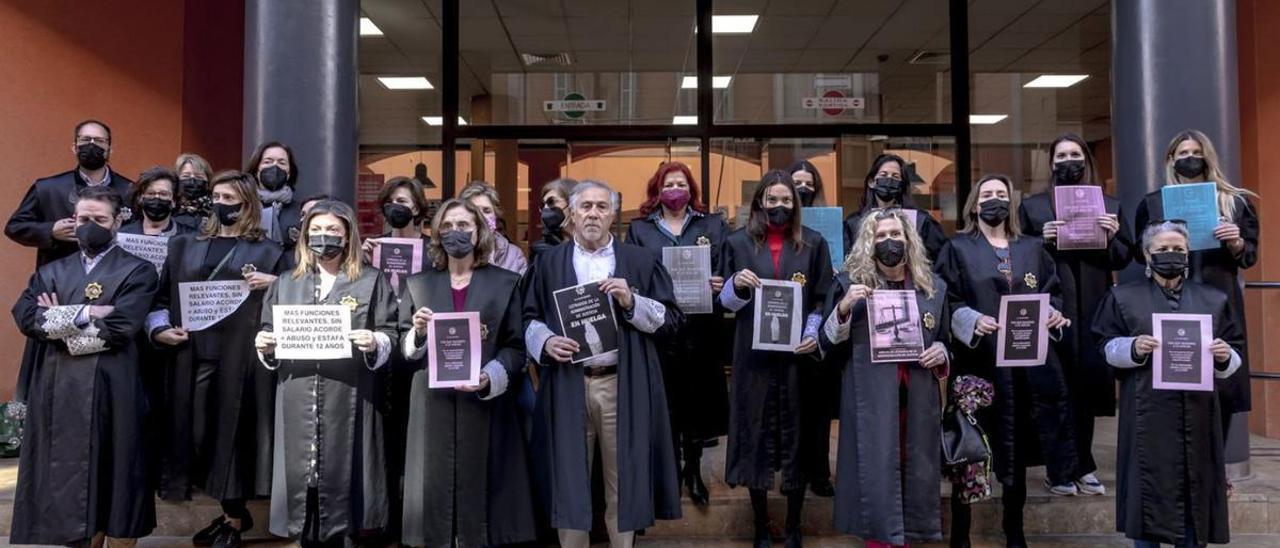
<path fill-rule="evenodd" d="M 362 237 L 349 205 L 294 197 L 284 143 L 259 146 L 243 172 L 215 174 L 184 154 L 136 183 L 111 172 L 110 149 L 106 124 L 77 125 L 76 169 L 37 181 L 5 227 L 37 248 L 13 310 L 28 337 L 18 393 L 29 410 L 14 543 L 129 545 L 154 529 L 156 494 L 198 492 L 223 510 L 198 545 L 239 545 L 253 528 L 247 501 L 269 497 L 269 530 L 303 545 L 518 544 L 550 528 L 585 547 L 598 475 L 609 543 L 630 547 L 655 520 L 681 517 L 681 488 L 709 503 L 701 456 L 726 434 L 724 480 L 748 488 L 755 545 L 773 542 L 776 480 L 788 547 L 803 544 L 806 490 L 833 494 L 837 529 L 868 545 L 938 540 L 940 391 L 959 375 L 995 389 L 978 423 L 1007 545 L 1027 544 L 1028 467 L 1046 466 L 1053 494 L 1106 490 L 1093 421 L 1116 402 L 1117 529 L 1139 547 L 1229 540 L 1222 439 L 1249 403 L 1239 270 L 1257 260 L 1258 223 L 1252 193 L 1225 179 L 1199 132 L 1176 136 L 1165 164 L 1170 184 L 1216 184 L 1212 250 L 1192 250 L 1158 191 L 1134 224 L 1105 197 L 1106 245 L 1059 250 L 1052 188 L 1019 200 L 998 174 L 978 181 L 947 238 L 914 204 L 911 166 L 886 154 L 845 220 L 844 250 L 804 224 L 824 193 L 808 161 L 765 173 L 732 230 L 690 169 L 664 163 L 625 241 L 608 184 L 545 184 L 527 261 L 499 232 L 484 182 L 431 214 L 421 183 L 393 178 L 378 198 L 389 230 Z M 1053 186 L 1101 184 L 1079 137 L 1050 152 Z M 120 233 L 166 238 L 165 260 L 125 251 Z M 385 237 L 421 238 L 421 271 L 370 265 Z M 675 246 L 709 248 L 712 314 L 677 305 L 663 266 Z M 1146 275 L 1116 286 L 1132 261 Z M 753 300 L 769 280 L 799 287 L 791 351 L 753 346 Z M 211 325 L 183 325 L 184 296 L 202 282 L 243 298 Z M 593 283 L 617 318 L 616 352 L 564 330 L 556 292 Z M 914 360 L 873 360 L 877 291 L 915 294 Z M 1007 294 L 1048 296 L 1043 365 L 996 366 Z M 278 359 L 278 305 L 346 307 L 351 357 Z M 429 387 L 429 326 L 443 312 L 479 315 L 475 385 Z M 1213 392 L 1152 387 L 1157 312 L 1212 318 Z M 970 508 L 952 493 L 950 542 L 969 545 Z"/>

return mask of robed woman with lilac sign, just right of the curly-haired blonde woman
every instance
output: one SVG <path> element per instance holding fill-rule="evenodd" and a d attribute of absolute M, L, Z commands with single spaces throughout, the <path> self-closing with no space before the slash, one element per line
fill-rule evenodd
<path fill-rule="evenodd" d="M 1048 347 L 1043 365 L 997 366 L 1001 302 L 1005 296 L 1046 294 L 1050 312 L 1039 337 L 1059 339 L 1070 325 L 1062 316 L 1062 294 L 1053 257 L 1039 238 L 1021 234 L 1018 196 L 1005 175 L 986 175 L 965 201 L 965 223 L 934 265 L 947 286 L 956 375 L 978 375 L 992 383 L 992 406 L 978 412 L 991 440 L 995 470 L 1004 492 L 1004 530 L 1010 547 L 1027 545 L 1023 506 L 1027 467 L 1044 465 L 1051 485 L 1070 483 L 1076 470 L 1071 405 L 1062 366 Z M 1043 341 L 1043 339 L 1042 339 Z M 951 498 L 951 545 L 969 545 L 969 506 Z"/>

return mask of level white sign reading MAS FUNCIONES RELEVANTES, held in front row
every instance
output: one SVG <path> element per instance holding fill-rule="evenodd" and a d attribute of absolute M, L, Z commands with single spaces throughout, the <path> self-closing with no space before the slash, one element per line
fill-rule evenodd
<path fill-rule="evenodd" d="M 271 319 L 278 360 L 351 357 L 351 309 L 343 305 L 275 305 Z"/>

